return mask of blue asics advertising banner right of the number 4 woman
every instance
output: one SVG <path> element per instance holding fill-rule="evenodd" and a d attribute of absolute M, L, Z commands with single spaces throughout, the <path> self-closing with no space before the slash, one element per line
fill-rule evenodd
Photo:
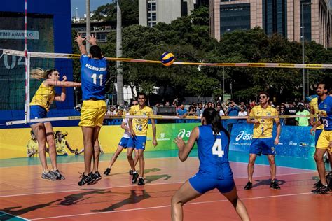
<path fill-rule="evenodd" d="M 230 136 L 230 150 L 249 153 L 253 124 L 234 124 Z M 276 129 L 273 129 L 273 137 Z M 275 146 L 277 155 L 310 158 L 314 155 L 314 136 L 310 127 L 282 126 L 279 144 Z"/>

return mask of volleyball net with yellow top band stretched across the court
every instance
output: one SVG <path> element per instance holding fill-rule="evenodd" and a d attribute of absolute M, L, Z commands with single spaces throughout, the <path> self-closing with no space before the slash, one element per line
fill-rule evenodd
<path fill-rule="evenodd" d="M 1 123 L 7 125 L 25 124 L 29 122 L 45 122 L 58 120 L 79 120 L 79 111 L 75 108 L 81 104 L 81 88 L 67 87 L 64 102 L 53 101 L 47 119 L 32 119 L 29 113 L 29 104 L 36 90 L 40 87 L 43 79 L 32 78 L 34 69 L 57 69 L 62 76 L 67 76 L 68 81 L 80 81 L 81 66 L 80 55 L 27 52 L 18 50 L 0 50 L 0 111 Z M 160 61 L 131 58 L 107 57 L 109 61 L 139 62 L 162 65 Z M 234 66 L 256 68 L 289 68 L 289 69 L 332 69 L 332 64 L 284 64 L 284 63 L 195 63 L 174 62 L 174 65 L 196 66 Z M 55 92 L 61 94 L 61 87 L 55 87 Z M 113 94 L 112 94 L 113 95 Z M 121 118 L 123 116 L 106 115 L 106 119 Z M 132 117 L 132 116 L 130 116 Z M 312 117 L 312 115 L 285 115 L 280 118 Z M 157 120 L 178 120 L 181 117 L 154 115 L 150 117 Z M 247 117 L 223 116 L 223 120 L 246 119 Z M 260 117 L 264 118 L 264 117 Z M 266 117 L 273 118 L 273 117 Z M 187 120 L 200 120 L 197 116 L 188 116 Z"/>

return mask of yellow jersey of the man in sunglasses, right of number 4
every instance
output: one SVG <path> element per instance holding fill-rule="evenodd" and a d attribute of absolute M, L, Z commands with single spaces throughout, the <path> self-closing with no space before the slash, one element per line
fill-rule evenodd
<path fill-rule="evenodd" d="M 263 109 L 261 105 L 254 106 L 250 111 L 249 117 L 265 117 L 265 116 L 279 116 L 279 113 L 272 106 L 268 106 L 266 109 Z M 271 138 L 273 130 L 273 118 L 269 119 L 257 119 L 259 124 L 254 124 L 254 134 L 253 138 Z M 279 120 L 279 118 L 275 118 Z"/>

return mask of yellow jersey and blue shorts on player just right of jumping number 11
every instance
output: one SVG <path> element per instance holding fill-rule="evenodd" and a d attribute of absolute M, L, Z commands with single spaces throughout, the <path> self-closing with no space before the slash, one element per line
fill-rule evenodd
<path fill-rule="evenodd" d="M 153 110 L 148 106 L 141 108 L 139 105 L 132 106 L 129 110 L 130 115 L 135 116 L 152 116 Z M 136 134 L 134 138 L 130 137 L 127 147 L 136 149 L 145 149 L 146 135 L 148 134 L 148 119 L 134 118 L 132 119 L 132 130 Z"/>

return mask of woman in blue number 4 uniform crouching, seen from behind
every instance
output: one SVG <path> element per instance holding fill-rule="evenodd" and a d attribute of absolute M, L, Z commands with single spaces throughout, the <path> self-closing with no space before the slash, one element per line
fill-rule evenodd
<path fill-rule="evenodd" d="M 233 204 L 242 220 L 249 220 L 246 207 L 237 197 L 233 173 L 228 162 L 228 132 L 223 128 L 219 113 L 214 108 L 204 110 L 202 126 L 193 129 L 188 143 L 184 143 L 181 137 L 174 139 L 182 162 L 187 159 L 195 141 L 198 143 L 200 168 L 198 173 L 187 180 L 172 197 L 172 220 L 183 220 L 182 206 L 214 188 Z"/>

